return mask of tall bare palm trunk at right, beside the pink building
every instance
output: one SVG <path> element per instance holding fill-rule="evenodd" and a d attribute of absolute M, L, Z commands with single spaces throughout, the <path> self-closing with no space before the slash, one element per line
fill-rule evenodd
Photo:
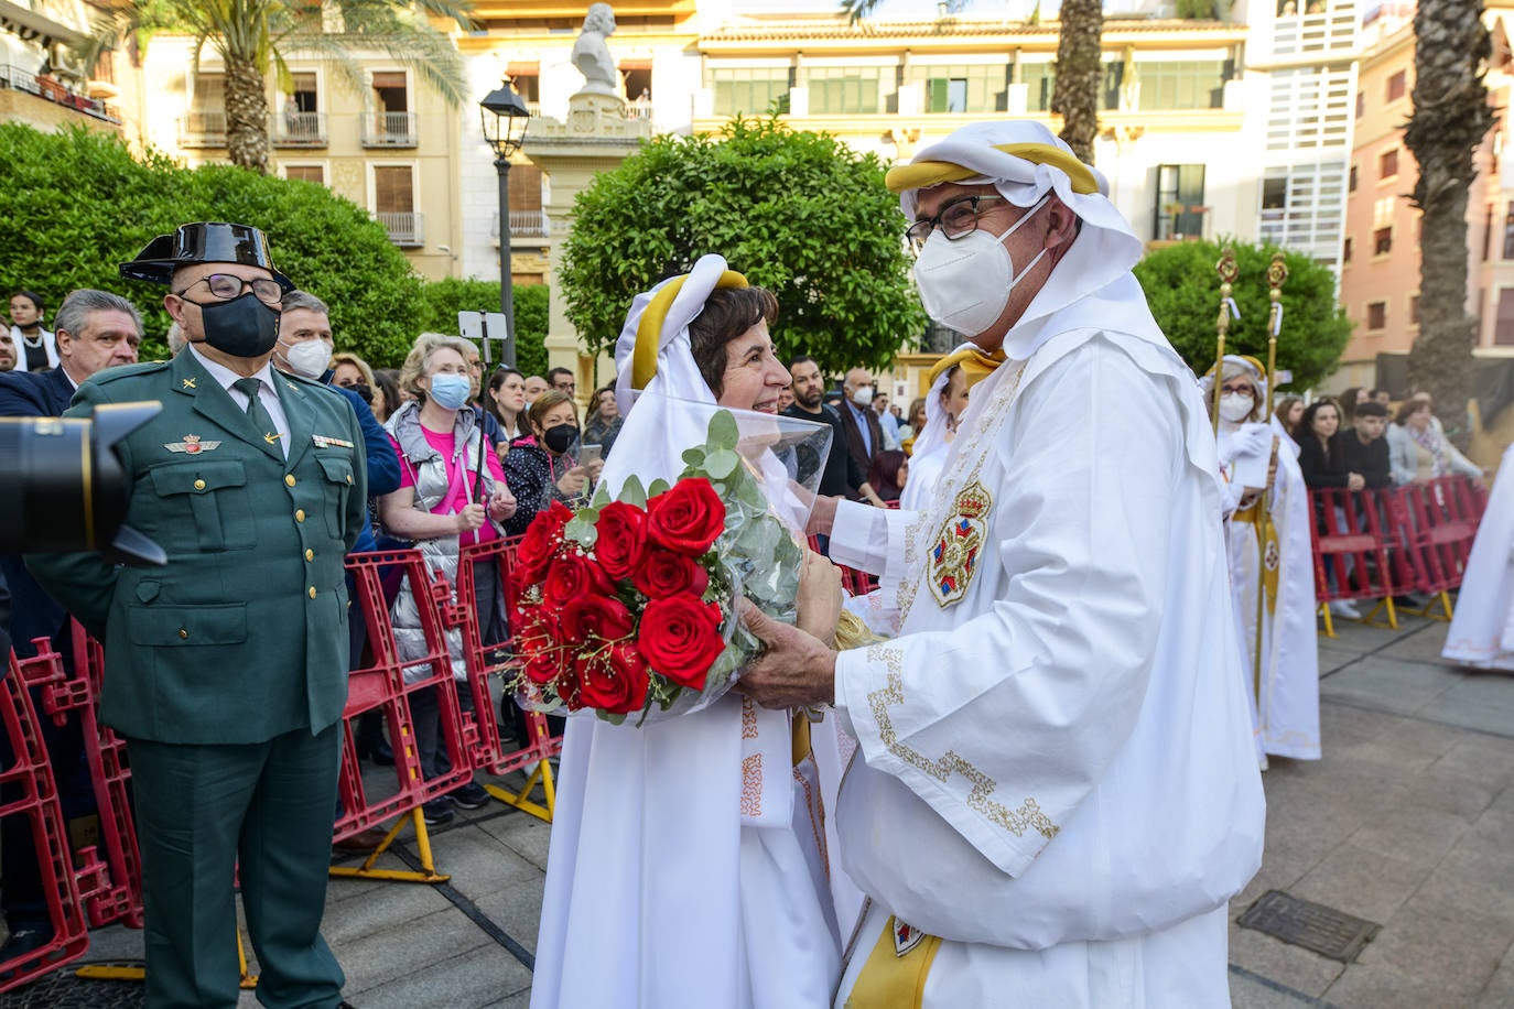
<path fill-rule="evenodd" d="M 1458 411 L 1472 395 L 1476 321 L 1467 316 L 1467 189 L 1493 126 L 1482 83 L 1493 51 L 1482 0 L 1420 0 L 1414 12 L 1414 112 L 1403 142 L 1419 162 L 1420 333 L 1410 383 Z"/>

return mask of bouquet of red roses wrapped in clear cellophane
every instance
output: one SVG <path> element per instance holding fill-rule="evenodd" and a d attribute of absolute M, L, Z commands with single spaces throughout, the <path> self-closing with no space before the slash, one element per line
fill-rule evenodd
<path fill-rule="evenodd" d="M 680 408 L 686 425 L 695 410 L 707 427 L 675 481 L 630 477 L 578 511 L 554 502 L 521 539 L 510 578 L 524 706 L 636 725 L 690 714 L 760 650 L 737 617 L 742 598 L 793 623 L 808 510 L 798 502 L 813 499 L 830 431 Z"/>

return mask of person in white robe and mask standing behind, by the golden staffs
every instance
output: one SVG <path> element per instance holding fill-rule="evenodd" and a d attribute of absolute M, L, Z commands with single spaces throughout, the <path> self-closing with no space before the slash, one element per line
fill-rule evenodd
<path fill-rule="evenodd" d="M 1299 446 L 1267 422 L 1261 363 L 1225 357 L 1220 381 L 1219 442 L 1225 539 L 1231 564 L 1231 595 L 1240 634 L 1241 670 L 1257 725 L 1257 753 L 1266 758 L 1320 758 L 1319 640 L 1314 623 L 1314 554 L 1310 546 L 1310 493 L 1299 469 Z M 1204 378 L 1205 402 L 1213 402 L 1213 372 Z M 1266 543 L 1258 522 L 1261 493 L 1246 477 L 1266 481 L 1270 454 L 1276 472 L 1267 487 L 1270 529 Z M 1267 576 L 1263 578 L 1266 564 Z M 1257 596 L 1267 584 L 1261 608 L 1261 675 L 1257 673 Z"/>

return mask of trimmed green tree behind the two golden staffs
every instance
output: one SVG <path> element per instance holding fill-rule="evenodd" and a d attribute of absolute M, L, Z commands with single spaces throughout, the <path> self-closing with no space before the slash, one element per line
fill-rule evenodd
<path fill-rule="evenodd" d="M 1251 354 L 1267 363 L 1267 266 L 1275 245 L 1225 241 L 1235 250 L 1240 277 L 1231 292 L 1240 310 L 1225 340 L 1228 354 Z M 1182 360 L 1199 375 L 1214 366 L 1214 321 L 1220 284 L 1214 242 L 1178 242 L 1149 253 L 1136 265 L 1157 325 Z M 1335 371 L 1350 339 L 1350 321 L 1335 303 L 1335 275 L 1301 253 L 1284 251 L 1288 280 L 1282 284 L 1282 331 L 1278 334 L 1278 369 L 1291 371 L 1288 390 L 1314 387 Z"/>

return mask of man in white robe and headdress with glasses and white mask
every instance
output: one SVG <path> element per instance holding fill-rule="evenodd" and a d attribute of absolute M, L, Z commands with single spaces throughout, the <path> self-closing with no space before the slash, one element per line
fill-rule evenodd
<path fill-rule="evenodd" d="M 828 502 L 892 640 L 748 613 L 765 705 L 860 741 L 836 818 L 869 896 L 837 1006 L 1226 1006 L 1226 902 L 1261 779 L 1193 374 L 1129 272 L 1107 182 L 1043 126 L 895 168 L 931 318 L 993 366 L 921 511 Z M 831 525 L 830 529 L 825 529 Z"/>

